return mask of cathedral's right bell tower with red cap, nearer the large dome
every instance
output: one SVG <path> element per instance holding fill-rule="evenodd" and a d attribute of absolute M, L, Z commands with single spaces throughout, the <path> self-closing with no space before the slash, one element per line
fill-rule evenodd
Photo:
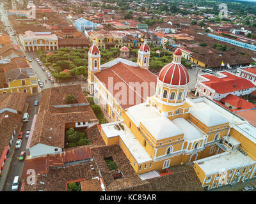
<path fill-rule="evenodd" d="M 137 64 L 141 69 L 148 69 L 149 67 L 150 48 L 147 45 L 147 38 L 145 38 L 143 45 L 140 46 L 138 51 Z"/>

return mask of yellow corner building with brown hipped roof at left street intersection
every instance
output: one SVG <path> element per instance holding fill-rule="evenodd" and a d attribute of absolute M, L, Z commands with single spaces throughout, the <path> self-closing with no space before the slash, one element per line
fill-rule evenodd
<path fill-rule="evenodd" d="M 40 92 L 38 81 L 33 69 L 19 68 L 12 69 L 5 73 L 4 86 L 0 89 L 0 94 L 10 92 L 25 92 L 35 94 Z"/>

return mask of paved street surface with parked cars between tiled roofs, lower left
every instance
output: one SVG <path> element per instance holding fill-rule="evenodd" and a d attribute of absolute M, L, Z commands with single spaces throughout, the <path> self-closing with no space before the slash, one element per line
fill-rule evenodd
<path fill-rule="evenodd" d="M 15 152 L 13 154 L 12 163 L 10 164 L 10 170 L 8 171 L 8 176 L 6 177 L 6 183 L 4 185 L 3 191 L 12 191 L 13 178 L 17 175 L 19 175 L 19 177 L 21 178 L 22 170 L 24 167 L 24 161 L 19 161 L 18 158 L 20 156 L 20 152 L 26 149 L 28 138 L 25 137 L 25 134 L 26 134 L 26 131 L 31 128 L 34 115 L 38 112 L 38 106 L 34 105 L 35 100 L 40 101 L 40 94 L 36 96 L 30 96 L 27 98 L 26 102 L 29 103 L 29 106 L 28 106 L 29 120 L 28 122 L 25 122 L 23 124 L 23 127 L 21 129 L 21 131 L 23 131 L 24 133 L 24 137 L 22 138 L 20 149 L 15 149 Z M 12 145 L 15 145 L 15 142 L 13 142 Z M 9 154 L 9 157 L 10 156 L 12 156 L 12 154 Z M 20 187 L 21 187 L 21 184 L 19 186 L 19 191 L 20 191 Z"/>

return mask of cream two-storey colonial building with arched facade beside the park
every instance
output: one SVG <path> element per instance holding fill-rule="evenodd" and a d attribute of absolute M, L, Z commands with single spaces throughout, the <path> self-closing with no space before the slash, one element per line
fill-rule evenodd
<path fill-rule="evenodd" d="M 24 34 L 20 34 L 19 39 L 26 51 L 59 50 L 58 37 L 51 32 L 26 31 Z"/>

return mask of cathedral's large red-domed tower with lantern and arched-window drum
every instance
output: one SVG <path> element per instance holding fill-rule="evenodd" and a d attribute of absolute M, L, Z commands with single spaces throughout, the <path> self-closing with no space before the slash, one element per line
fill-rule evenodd
<path fill-rule="evenodd" d="M 166 64 L 159 72 L 156 93 L 149 99 L 150 103 L 166 116 L 169 115 L 170 110 L 175 111 L 179 106 L 186 106 L 189 75 L 181 64 L 181 57 L 182 53 L 178 48 L 173 53 L 173 61 Z"/>

